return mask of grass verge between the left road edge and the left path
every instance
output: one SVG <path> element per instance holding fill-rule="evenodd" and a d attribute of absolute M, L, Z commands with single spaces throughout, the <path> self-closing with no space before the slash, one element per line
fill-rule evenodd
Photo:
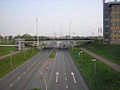
<path fill-rule="evenodd" d="M 24 52 L 17 53 L 13 55 L 12 58 L 12 66 L 10 57 L 4 58 L 0 60 L 0 78 L 3 77 L 8 72 L 12 71 L 17 66 L 24 63 L 26 60 L 37 54 L 40 50 L 36 48 L 31 48 Z M 24 57 L 25 56 L 25 57 Z"/>

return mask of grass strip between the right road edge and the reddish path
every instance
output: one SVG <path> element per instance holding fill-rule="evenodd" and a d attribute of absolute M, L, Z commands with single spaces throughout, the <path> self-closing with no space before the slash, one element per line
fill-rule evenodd
<path fill-rule="evenodd" d="M 85 81 L 87 82 L 90 90 L 120 90 L 120 72 L 115 71 L 110 66 L 103 62 L 96 60 L 96 76 L 95 68 L 89 54 L 83 52 L 81 57 L 77 56 L 80 49 L 70 50 L 70 54 L 74 59 L 78 69 L 81 71 Z M 83 59 L 82 59 L 83 58 Z M 95 84 L 96 77 L 96 84 Z"/>

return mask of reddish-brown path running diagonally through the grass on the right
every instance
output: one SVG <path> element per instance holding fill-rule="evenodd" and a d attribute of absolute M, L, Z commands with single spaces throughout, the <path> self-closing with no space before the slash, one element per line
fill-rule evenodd
<path fill-rule="evenodd" d="M 120 72 L 120 66 L 119 65 L 117 65 L 117 64 L 115 64 L 115 63 L 113 63 L 113 62 L 111 62 L 111 61 L 109 61 L 109 60 L 107 60 L 107 59 L 105 59 L 105 58 L 103 58 L 101 56 L 98 56 L 98 55 L 96 55 L 94 53 L 91 53 L 91 52 L 89 52 L 88 50 L 86 50 L 84 48 L 80 48 L 80 49 L 83 50 L 83 51 L 85 51 L 89 55 L 95 57 L 96 59 L 104 62 L 105 64 L 109 65 L 110 67 L 112 67 L 113 69 L 117 70 L 118 72 Z"/>

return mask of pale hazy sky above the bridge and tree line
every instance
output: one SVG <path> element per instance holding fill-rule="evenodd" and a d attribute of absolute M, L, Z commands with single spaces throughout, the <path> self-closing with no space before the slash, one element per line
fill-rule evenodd
<path fill-rule="evenodd" d="M 39 35 L 71 34 L 97 35 L 102 27 L 102 0 L 0 0 L 0 34 L 36 34 L 36 16 Z M 54 30 L 55 28 L 55 30 Z"/>

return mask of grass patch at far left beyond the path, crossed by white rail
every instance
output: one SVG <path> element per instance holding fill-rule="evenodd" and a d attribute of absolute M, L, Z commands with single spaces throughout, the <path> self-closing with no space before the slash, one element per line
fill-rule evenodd
<path fill-rule="evenodd" d="M 14 45 L 14 42 L 0 42 L 0 45 Z M 15 51 L 15 47 L 0 47 L 0 56 L 9 54 L 11 51 Z"/>

